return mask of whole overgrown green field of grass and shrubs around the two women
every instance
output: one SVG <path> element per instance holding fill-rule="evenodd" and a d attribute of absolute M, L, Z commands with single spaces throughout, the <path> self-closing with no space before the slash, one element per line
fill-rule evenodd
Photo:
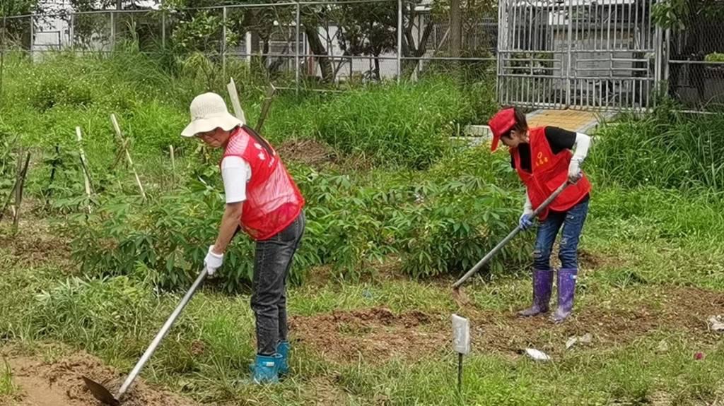
<path fill-rule="evenodd" d="M 193 95 L 224 94 L 224 81 L 193 64 L 169 76 L 134 53 L 62 55 L 43 64 L 12 56 L 7 63 L 1 174 L 12 180 L 20 147 L 33 152 L 27 189 L 33 212 L 25 212 L 30 221 L 17 235 L 0 226 L 0 340 L 64 342 L 128 371 L 177 304 L 176 291 L 200 270 L 216 234 L 223 207 L 219 152 L 178 133 Z M 248 75 L 235 79 L 254 123 L 264 83 L 238 69 Z M 279 150 L 312 140 L 329 151 L 320 160 L 306 159 L 313 152 L 306 150 L 283 155 L 308 202 L 290 314 L 344 319 L 348 311 L 384 306 L 393 315 L 423 312 L 426 321 L 388 317 L 371 327 L 335 321 L 308 336 L 292 329 L 298 339 L 292 378 L 264 391 L 240 384 L 254 354 L 246 286 L 253 251 L 251 241 L 236 238 L 224 268 L 195 296 L 144 378 L 205 404 L 458 404 L 446 329 L 451 312 L 465 312 L 475 337 L 465 364 L 467 403 L 641 404 L 663 397 L 715 404 L 724 357 L 720 337 L 704 325 L 719 311 L 724 285 L 721 116 L 662 109 L 597 131 L 584 163 L 594 195 L 576 311 L 570 323 L 549 327 L 542 319 L 510 317 L 530 300 L 533 233 L 495 257 L 482 272 L 488 283 L 469 288 L 476 308 L 460 309 L 450 298 L 450 276 L 500 241 L 523 204 L 505 152 L 449 139 L 458 124 L 487 121 L 497 106 L 485 89 L 486 82 L 461 87 L 458 79 L 429 77 L 340 95 L 282 94 L 265 124 Z M 110 113 L 130 139 L 147 202 L 123 160 L 114 165 L 121 150 Z M 78 125 L 93 180 L 90 215 Z M 0 184 L 7 196 L 10 185 Z M 38 218 L 50 224 L 47 230 L 33 228 Z M 70 249 L 59 241 L 72 241 Z M 296 327 L 319 327 L 319 320 Z M 594 337 L 591 347 L 564 349 L 572 334 L 586 332 Z M 380 335 L 386 333 L 394 339 Z M 334 346 L 345 345 L 334 342 L 337 336 L 324 347 L 311 341 L 325 334 L 358 339 L 343 347 L 352 360 L 334 358 Z M 442 338 L 431 348 L 406 341 L 435 334 Z M 374 356 L 363 356 L 365 346 Z M 515 353 L 529 346 L 555 362 L 531 363 Z M 413 356 L 405 358 L 408 352 Z M 694 358 L 699 352 L 702 360 Z M 9 373 L 0 366 L 0 395 L 5 381 Z"/>

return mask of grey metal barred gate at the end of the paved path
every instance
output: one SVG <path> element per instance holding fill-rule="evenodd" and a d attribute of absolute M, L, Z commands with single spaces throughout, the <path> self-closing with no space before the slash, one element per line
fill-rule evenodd
<path fill-rule="evenodd" d="M 500 103 L 649 107 L 661 72 L 654 1 L 500 0 Z"/>

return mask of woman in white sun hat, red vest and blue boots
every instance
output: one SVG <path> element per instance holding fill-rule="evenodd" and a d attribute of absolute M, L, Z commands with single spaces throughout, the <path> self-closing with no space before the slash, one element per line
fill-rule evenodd
<path fill-rule="evenodd" d="M 204 265 L 214 275 L 239 229 L 256 241 L 251 295 L 257 342 L 253 381 L 276 382 L 289 371 L 286 279 L 304 233 L 304 198 L 269 142 L 232 116 L 221 96 L 198 95 L 190 111 L 191 123 L 182 136 L 224 148 L 221 170 L 226 209 Z"/>

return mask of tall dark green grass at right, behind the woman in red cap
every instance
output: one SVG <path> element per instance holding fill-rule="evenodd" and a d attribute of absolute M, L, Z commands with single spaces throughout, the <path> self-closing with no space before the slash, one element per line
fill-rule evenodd
<path fill-rule="evenodd" d="M 724 186 L 724 116 L 675 113 L 623 116 L 597 133 L 590 165 L 601 181 L 627 187 L 707 189 Z"/>

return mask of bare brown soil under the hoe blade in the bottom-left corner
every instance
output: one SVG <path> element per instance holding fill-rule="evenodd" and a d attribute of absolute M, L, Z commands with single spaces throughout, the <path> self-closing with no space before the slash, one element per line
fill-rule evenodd
<path fill-rule="evenodd" d="M 14 406 L 98 406 L 101 405 L 85 389 L 81 376 L 86 375 L 107 387 L 118 388 L 122 376 L 113 368 L 86 353 L 75 353 L 60 360 L 46 362 L 39 358 L 3 355 L 12 369 L 17 387 L 14 399 L 0 399 L 0 405 Z M 196 406 L 195 402 L 135 382 L 124 398 L 124 406 Z"/>

